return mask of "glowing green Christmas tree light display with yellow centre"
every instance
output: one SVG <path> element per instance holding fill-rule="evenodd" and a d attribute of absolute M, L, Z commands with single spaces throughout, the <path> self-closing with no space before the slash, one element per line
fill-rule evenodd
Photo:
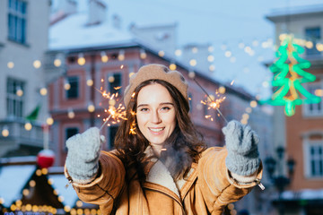
<path fill-rule="evenodd" d="M 272 85 L 277 89 L 271 99 L 262 103 L 284 106 L 286 116 L 294 115 L 296 105 L 320 102 L 319 97 L 301 85 L 316 79 L 315 75 L 303 70 L 310 68 L 310 62 L 299 56 L 303 52 L 304 48 L 294 43 L 292 36 L 287 36 L 276 52 L 278 59 L 270 66 L 274 73 Z"/>

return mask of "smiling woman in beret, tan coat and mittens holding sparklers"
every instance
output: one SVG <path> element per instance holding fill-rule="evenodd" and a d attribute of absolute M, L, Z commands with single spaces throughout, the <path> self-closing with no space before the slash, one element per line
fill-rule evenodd
<path fill-rule="evenodd" d="M 116 150 L 90 128 L 67 140 L 65 174 L 83 202 L 102 214 L 222 214 L 259 185 L 258 136 L 231 121 L 226 147 L 206 149 L 188 115 L 188 84 L 177 71 L 148 64 L 125 90 L 127 120 Z"/>

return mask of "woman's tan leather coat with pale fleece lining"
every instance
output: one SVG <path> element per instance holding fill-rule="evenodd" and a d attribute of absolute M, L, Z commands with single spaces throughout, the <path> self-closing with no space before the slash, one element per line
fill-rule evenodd
<path fill-rule="evenodd" d="M 249 193 L 262 176 L 260 166 L 254 182 L 238 185 L 225 167 L 226 155 L 226 148 L 205 150 L 198 164 L 192 164 L 188 178 L 176 183 L 160 160 L 152 160 L 144 168 L 147 178 L 140 185 L 135 169 L 125 169 L 115 154 L 102 151 L 95 180 L 73 186 L 83 202 L 100 205 L 102 214 L 220 215 L 225 205 Z"/>

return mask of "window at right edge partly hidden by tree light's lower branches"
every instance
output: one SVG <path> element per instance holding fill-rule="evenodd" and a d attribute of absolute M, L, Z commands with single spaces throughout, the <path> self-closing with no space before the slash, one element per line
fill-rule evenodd
<path fill-rule="evenodd" d="M 315 91 L 320 89 L 323 89 L 323 82 L 311 82 L 306 87 L 306 90 L 312 95 L 315 95 Z M 323 116 L 323 99 L 319 103 L 305 104 L 303 107 L 304 116 Z"/>

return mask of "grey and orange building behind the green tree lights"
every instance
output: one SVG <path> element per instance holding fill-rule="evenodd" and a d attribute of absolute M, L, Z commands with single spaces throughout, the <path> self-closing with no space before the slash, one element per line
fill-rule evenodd
<path fill-rule="evenodd" d="M 310 61 L 306 72 L 315 82 L 303 84 L 321 97 L 317 104 L 296 106 L 293 116 L 284 116 L 284 107 L 275 107 L 274 144 L 286 150 L 284 159 L 295 160 L 291 185 L 282 193 L 286 214 L 322 214 L 323 211 L 323 4 L 278 10 L 266 17 L 275 24 L 277 47 L 284 34 L 292 34 L 305 48 L 301 58 Z M 296 40 L 295 40 L 296 41 Z M 284 173 L 286 168 L 280 169 Z M 277 198 L 277 196 L 275 197 Z"/>

